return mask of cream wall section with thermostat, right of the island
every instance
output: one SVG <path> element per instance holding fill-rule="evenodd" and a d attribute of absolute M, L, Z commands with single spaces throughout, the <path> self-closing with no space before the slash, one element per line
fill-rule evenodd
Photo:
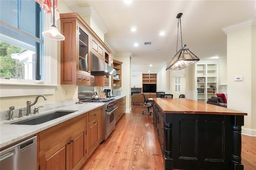
<path fill-rule="evenodd" d="M 256 136 L 256 26 L 227 32 L 228 108 L 248 113 L 242 132 Z M 234 81 L 235 77 L 242 81 Z"/>

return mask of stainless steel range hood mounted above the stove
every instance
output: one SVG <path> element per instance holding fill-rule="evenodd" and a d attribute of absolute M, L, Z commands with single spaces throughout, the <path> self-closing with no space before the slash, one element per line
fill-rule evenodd
<path fill-rule="evenodd" d="M 116 75 L 116 70 L 91 53 L 91 75 Z"/>

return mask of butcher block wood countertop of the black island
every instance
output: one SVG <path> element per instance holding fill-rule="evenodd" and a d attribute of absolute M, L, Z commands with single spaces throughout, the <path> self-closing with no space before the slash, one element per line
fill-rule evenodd
<path fill-rule="evenodd" d="M 247 113 L 225 107 L 202 103 L 186 98 L 153 98 L 163 113 L 210 114 L 210 115 L 240 115 Z"/>

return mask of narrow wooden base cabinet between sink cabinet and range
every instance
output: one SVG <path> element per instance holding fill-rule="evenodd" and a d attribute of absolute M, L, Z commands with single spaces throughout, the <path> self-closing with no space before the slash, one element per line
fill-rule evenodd
<path fill-rule="evenodd" d="M 103 140 L 103 107 L 88 113 L 88 145 L 89 155 Z"/>

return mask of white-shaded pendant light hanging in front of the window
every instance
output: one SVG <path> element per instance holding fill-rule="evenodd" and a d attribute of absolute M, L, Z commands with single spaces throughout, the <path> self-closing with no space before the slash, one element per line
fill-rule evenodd
<path fill-rule="evenodd" d="M 55 16 L 54 16 L 54 0 L 53 0 L 53 25 L 46 31 L 42 32 L 42 35 L 50 40 L 62 41 L 65 40 L 65 37 L 60 34 L 58 28 L 54 25 Z"/>

